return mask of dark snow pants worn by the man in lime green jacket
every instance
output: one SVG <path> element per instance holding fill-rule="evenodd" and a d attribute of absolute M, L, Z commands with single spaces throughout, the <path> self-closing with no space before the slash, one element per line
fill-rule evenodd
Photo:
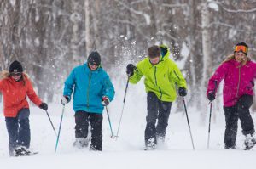
<path fill-rule="evenodd" d="M 146 146 L 154 146 L 157 144 L 157 138 L 164 139 L 166 136 L 166 127 L 168 126 L 172 102 L 161 101 L 155 93 L 149 92 L 147 104 L 148 115 L 146 117 L 145 144 Z"/>

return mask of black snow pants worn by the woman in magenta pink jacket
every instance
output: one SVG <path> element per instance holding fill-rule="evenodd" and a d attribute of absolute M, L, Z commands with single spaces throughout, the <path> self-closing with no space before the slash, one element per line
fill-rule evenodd
<path fill-rule="evenodd" d="M 253 96 L 243 95 L 234 106 L 224 107 L 225 135 L 224 144 L 227 148 L 236 146 L 237 121 L 241 121 L 241 129 L 244 135 L 253 134 L 254 124 L 249 108 L 253 104 Z"/>

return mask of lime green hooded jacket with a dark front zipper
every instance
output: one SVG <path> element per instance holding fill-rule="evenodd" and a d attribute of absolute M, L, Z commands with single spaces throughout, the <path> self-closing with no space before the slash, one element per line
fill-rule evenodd
<path fill-rule="evenodd" d="M 149 58 L 137 63 L 134 75 L 129 82 L 136 84 L 145 76 L 146 92 L 154 92 L 158 99 L 173 102 L 177 98 L 177 87 L 187 88 L 186 81 L 177 65 L 169 59 L 170 51 L 165 45 L 160 45 L 162 56 L 157 65 L 152 65 Z"/>

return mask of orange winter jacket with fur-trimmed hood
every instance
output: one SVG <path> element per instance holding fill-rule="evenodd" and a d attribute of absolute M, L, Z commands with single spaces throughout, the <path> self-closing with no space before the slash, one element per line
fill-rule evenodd
<path fill-rule="evenodd" d="M 29 108 L 26 96 L 38 106 L 42 100 L 35 93 L 32 82 L 23 74 L 24 81 L 16 82 L 12 77 L 0 81 L 0 92 L 3 93 L 3 113 L 5 117 L 16 117 L 23 108 Z M 24 84 L 25 82 L 25 84 Z"/>

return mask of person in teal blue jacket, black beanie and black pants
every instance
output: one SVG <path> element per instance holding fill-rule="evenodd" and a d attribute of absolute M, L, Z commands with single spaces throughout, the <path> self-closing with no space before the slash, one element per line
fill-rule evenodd
<path fill-rule="evenodd" d="M 114 97 L 114 87 L 101 65 L 98 52 L 90 53 L 84 65 L 75 67 L 65 82 L 61 104 L 67 104 L 73 93 L 75 111 L 74 146 L 88 146 L 88 127 L 91 127 L 90 150 L 102 150 L 102 111 Z"/>

